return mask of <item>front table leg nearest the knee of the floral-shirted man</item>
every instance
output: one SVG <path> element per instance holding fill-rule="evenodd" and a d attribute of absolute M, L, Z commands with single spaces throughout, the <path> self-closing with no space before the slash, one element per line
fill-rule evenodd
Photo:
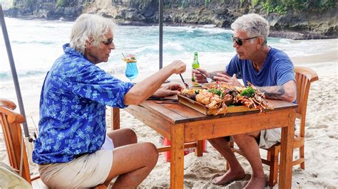
<path fill-rule="evenodd" d="M 184 178 L 184 126 L 170 127 L 170 188 L 183 188 Z"/>

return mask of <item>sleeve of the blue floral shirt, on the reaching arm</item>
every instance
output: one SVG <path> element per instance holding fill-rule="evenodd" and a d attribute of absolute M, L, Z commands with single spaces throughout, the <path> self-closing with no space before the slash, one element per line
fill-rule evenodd
<path fill-rule="evenodd" d="M 124 96 L 133 87 L 104 72 L 96 65 L 79 68 L 68 77 L 68 89 L 74 94 L 110 107 L 124 108 Z"/>

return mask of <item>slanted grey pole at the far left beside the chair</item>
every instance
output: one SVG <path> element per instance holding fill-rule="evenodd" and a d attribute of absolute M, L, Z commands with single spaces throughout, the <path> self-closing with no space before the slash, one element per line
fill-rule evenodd
<path fill-rule="evenodd" d="M 19 85 L 19 81 L 18 81 L 18 75 L 16 74 L 14 58 L 13 58 L 13 54 L 11 52 L 11 43 L 9 43 L 9 35 L 7 33 L 7 28 L 6 28 L 5 18 L 4 18 L 4 11 L 2 10 L 1 4 L 0 4 L 0 23 L 1 23 L 2 34 L 4 36 L 4 41 L 5 41 L 5 44 L 6 44 L 7 55 L 9 57 L 9 64 L 11 65 L 11 75 L 13 76 L 13 80 L 14 80 L 15 92 L 16 92 L 16 97 L 18 99 L 18 103 L 19 103 L 20 113 L 26 119 L 24 103 L 22 102 L 20 85 Z M 28 129 L 28 126 L 27 126 L 27 121 L 24 122 L 23 125 L 24 125 L 25 137 L 28 137 L 29 141 L 33 141 L 33 139 L 31 139 L 31 137 L 29 136 L 29 129 Z"/>

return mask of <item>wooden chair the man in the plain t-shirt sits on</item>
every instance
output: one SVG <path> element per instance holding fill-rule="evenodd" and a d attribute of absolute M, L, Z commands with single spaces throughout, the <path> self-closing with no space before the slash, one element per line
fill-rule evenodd
<path fill-rule="evenodd" d="M 314 70 L 304 67 L 295 67 L 295 76 L 297 82 L 297 104 L 296 118 L 300 120 L 299 133 L 295 134 L 294 148 L 299 148 L 299 158 L 292 162 L 292 166 L 300 164 L 300 168 L 305 168 L 304 159 L 304 136 L 305 136 L 305 117 L 307 114 L 307 98 L 309 96 L 309 87 L 311 82 L 319 80 L 318 75 Z M 232 151 L 243 155 L 242 151 L 234 148 L 234 143 L 230 142 Z M 270 166 L 269 186 L 273 187 L 277 183 L 278 161 L 280 153 L 280 144 L 266 149 L 267 159 L 262 158 L 262 163 Z M 227 169 L 229 165 L 227 164 Z"/>

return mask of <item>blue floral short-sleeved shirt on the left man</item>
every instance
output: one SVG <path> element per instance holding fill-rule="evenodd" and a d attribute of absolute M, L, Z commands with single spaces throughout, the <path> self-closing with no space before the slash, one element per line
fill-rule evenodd
<path fill-rule="evenodd" d="M 133 87 L 63 45 L 43 83 L 35 163 L 64 163 L 101 148 L 106 136 L 106 105 L 123 108 Z"/>

